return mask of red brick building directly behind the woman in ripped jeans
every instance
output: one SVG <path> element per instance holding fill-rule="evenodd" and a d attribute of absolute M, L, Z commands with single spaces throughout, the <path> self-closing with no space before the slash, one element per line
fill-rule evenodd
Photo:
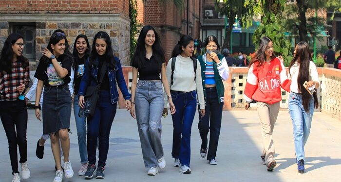
<path fill-rule="evenodd" d="M 203 0 L 184 0 L 184 7 L 181 9 L 172 2 L 137 0 L 137 19 L 142 25 L 153 26 L 159 33 L 166 59 L 170 59 L 171 51 L 181 35 L 200 37 L 202 2 Z"/>

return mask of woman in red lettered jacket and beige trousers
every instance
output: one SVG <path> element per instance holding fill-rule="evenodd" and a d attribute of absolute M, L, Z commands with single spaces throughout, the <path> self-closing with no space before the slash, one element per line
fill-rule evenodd
<path fill-rule="evenodd" d="M 263 138 L 261 159 L 267 171 L 272 171 L 276 166 L 272 134 L 282 100 L 281 87 L 289 92 L 290 81 L 282 61 L 273 54 L 273 43 L 269 37 L 261 38 L 249 66 L 244 90 L 245 109 L 249 108 L 252 100 L 257 101 Z"/>

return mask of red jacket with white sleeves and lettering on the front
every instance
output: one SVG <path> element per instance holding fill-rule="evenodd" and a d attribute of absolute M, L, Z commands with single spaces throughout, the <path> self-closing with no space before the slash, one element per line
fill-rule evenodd
<path fill-rule="evenodd" d="M 281 87 L 290 92 L 290 83 L 285 67 L 278 57 L 263 66 L 254 63 L 248 70 L 244 99 L 267 104 L 279 102 L 282 100 Z"/>

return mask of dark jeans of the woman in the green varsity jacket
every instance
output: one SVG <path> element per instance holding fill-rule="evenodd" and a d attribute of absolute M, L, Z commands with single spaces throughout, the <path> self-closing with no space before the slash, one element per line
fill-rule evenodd
<path fill-rule="evenodd" d="M 211 160 L 215 159 L 215 156 L 217 155 L 224 102 L 219 103 L 216 87 L 205 89 L 206 89 L 205 116 L 201 117 L 199 114 L 198 129 L 202 140 L 201 149 L 207 149 L 208 143 L 207 135 L 209 130 L 209 146 L 207 160 Z"/>

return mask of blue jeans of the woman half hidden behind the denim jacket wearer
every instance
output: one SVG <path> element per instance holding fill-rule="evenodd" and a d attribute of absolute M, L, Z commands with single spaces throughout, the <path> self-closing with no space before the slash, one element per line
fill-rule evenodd
<path fill-rule="evenodd" d="M 78 105 L 78 95 L 74 97 L 74 114 L 76 120 L 76 129 L 77 129 L 77 136 L 78 136 L 78 149 L 79 149 L 79 156 L 80 156 L 80 163 L 87 164 L 88 163 L 88 153 L 86 149 L 86 118 L 79 117 L 79 105 Z"/>

